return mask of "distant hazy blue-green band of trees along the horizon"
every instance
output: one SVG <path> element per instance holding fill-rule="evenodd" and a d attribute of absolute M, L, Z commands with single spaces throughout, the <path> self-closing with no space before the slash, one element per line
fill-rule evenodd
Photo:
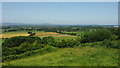
<path fill-rule="evenodd" d="M 106 26 L 109 27 L 109 26 Z M 3 32 L 12 32 L 12 31 L 46 31 L 46 32 L 57 32 L 57 31 L 89 31 L 90 29 L 102 29 L 104 26 L 81 26 L 81 25 L 66 25 L 66 26 L 3 26 Z M 113 28 L 113 27 L 111 27 Z"/>

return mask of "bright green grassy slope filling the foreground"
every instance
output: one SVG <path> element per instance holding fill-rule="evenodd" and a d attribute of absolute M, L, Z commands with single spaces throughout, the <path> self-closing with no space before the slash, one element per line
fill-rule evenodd
<path fill-rule="evenodd" d="M 4 62 L 11 66 L 117 66 L 118 50 L 102 47 L 76 47 L 58 49 L 45 55 Z"/>

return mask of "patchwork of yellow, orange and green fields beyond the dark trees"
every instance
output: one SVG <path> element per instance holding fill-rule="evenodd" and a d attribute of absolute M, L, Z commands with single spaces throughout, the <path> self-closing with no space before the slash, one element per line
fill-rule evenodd
<path fill-rule="evenodd" d="M 78 36 L 59 34 L 55 32 L 42 32 L 42 31 L 33 31 L 33 32 L 36 33 L 35 36 L 38 36 L 41 38 L 47 37 L 47 36 L 53 36 L 56 40 L 78 38 Z M 6 32 L 3 34 L 0 34 L 1 38 L 10 38 L 14 36 L 29 36 L 29 34 L 27 33 L 27 31 L 19 31 L 19 32 L 15 31 L 15 32 Z"/>

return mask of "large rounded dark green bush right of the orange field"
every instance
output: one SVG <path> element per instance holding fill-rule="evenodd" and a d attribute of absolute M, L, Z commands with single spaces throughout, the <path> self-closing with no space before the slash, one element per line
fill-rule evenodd
<path fill-rule="evenodd" d="M 94 30 L 84 33 L 81 37 L 81 42 L 97 42 L 103 41 L 104 39 L 109 39 L 111 37 L 111 33 L 107 30 Z"/>

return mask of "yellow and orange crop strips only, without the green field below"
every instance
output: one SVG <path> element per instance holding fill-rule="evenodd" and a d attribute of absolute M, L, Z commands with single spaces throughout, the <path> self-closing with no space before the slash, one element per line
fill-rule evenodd
<path fill-rule="evenodd" d="M 47 36 L 53 36 L 53 37 L 77 37 L 77 36 L 72 36 L 72 35 L 65 35 L 65 34 L 59 34 L 59 33 L 54 33 L 54 32 L 36 32 L 35 34 L 38 37 L 47 37 Z M 29 36 L 27 32 L 12 32 L 12 33 L 3 33 L 0 34 L 1 38 L 10 38 L 14 36 Z"/>

